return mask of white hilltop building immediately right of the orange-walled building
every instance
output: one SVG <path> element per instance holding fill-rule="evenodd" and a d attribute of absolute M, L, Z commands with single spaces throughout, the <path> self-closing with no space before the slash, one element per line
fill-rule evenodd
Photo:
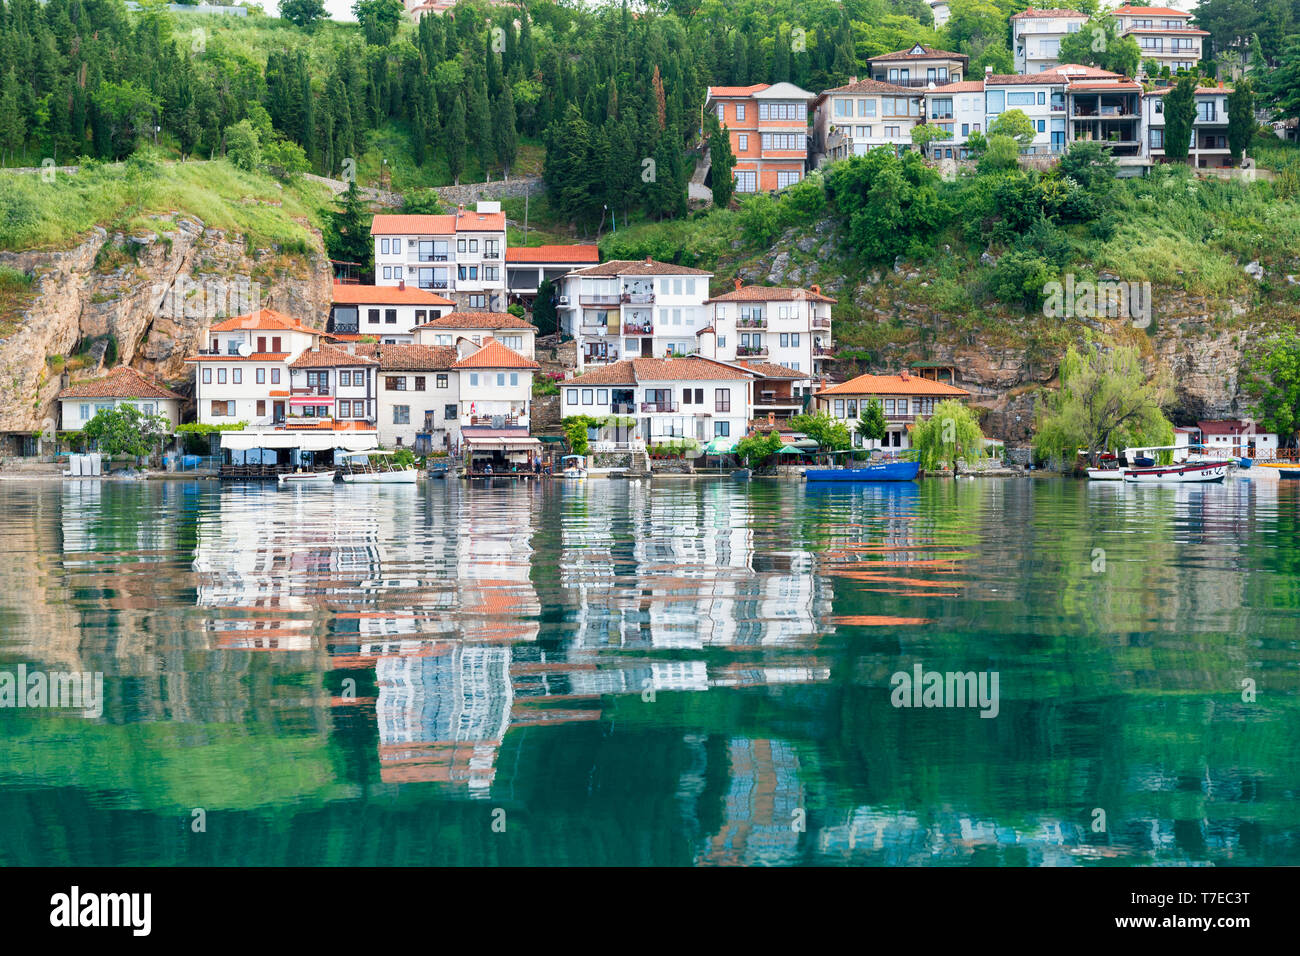
<path fill-rule="evenodd" d="M 897 153 L 911 148 L 911 129 L 924 122 L 922 96 L 919 90 L 857 77 L 823 90 L 812 103 L 814 163 L 864 156 L 879 146 Z"/>

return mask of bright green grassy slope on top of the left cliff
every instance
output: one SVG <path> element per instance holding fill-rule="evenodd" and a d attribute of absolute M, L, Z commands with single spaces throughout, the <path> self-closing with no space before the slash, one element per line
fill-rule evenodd
<path fill-rule="evenodd" d="M 0 248 L 68 246 L 96 225 L 127 234 L 157 232 L 153 216 L 182 213 L 259 247 L 302 252 L 320 247 L 311 228 L 320 228 L 328 202 L 318 183 L 280 183 L 225 160 L 87 164 L 53 182 L 0 172 Z"/>

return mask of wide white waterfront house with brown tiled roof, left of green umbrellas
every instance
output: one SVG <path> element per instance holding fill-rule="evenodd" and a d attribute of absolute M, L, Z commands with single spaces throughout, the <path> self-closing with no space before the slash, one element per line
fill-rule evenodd
<path fill-rule="evenodd" d="M 624 359 L 560 384 L 564 418 L 606 419 L 601 438 L 729 451 L 749 428 L 754 373 L 702 358 Z"/>

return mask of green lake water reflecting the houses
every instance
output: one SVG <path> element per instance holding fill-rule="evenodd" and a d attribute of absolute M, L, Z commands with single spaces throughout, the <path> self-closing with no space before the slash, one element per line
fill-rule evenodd
<path fill-rule="evenodd" d="M 1300 864 L 1297 493 L 4 481 L 0 864 Z"/>

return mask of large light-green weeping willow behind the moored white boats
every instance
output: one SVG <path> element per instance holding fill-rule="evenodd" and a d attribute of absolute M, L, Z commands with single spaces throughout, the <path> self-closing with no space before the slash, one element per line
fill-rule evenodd
<path fill-rule="evenodd" d="M 1171 445 L 1165 418 L 1171 390 L 1166 375 L 1148 378 L 1138 350 L 1076 351 L 1061 362 L 1061 388 L 1039 403 L 1034 450 L 1072 463 L 1079 450 L 1092 464 L 1113 447 Z"/>

